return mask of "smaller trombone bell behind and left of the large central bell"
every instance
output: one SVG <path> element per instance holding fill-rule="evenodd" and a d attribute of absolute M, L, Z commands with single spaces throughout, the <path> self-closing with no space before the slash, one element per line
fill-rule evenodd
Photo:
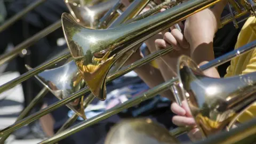
<path fill-rule="evenodd" d="M 59 100 L 67 98 L 70 94 L 82 89 L 85 85 L 81 74 L 79 74 L 79 71 L 77 70 L 75 62 L 70 58 L 69 60 L 63 60 L 68 62 L 60 67 L 47 69 L 35 76 L 38 81 L 47 87 L 47 89 L 49 89 L 49 91 Z M 31 70 L 28 65 L 26 65 L 26 67 Z M 73 102 L 69 102 L 67 107 L 86 119 L 84 115 L 83 99 L 84 97 L 81 97 Z"/>

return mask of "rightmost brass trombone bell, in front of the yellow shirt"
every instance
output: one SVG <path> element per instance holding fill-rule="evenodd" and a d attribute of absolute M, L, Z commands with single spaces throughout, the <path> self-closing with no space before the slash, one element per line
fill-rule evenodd
<path fill-rule="evenodd" d="M 225 129 L 235 115 L 256 100 L 256 72 L 211 78 L 183 55 L 179 58 L 178 76 L 183 98 L 206 137 Z"/>

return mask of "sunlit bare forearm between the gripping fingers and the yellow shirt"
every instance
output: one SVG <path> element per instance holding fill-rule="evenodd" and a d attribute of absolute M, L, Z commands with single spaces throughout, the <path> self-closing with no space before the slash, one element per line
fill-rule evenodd
<path fill-rule="evenodd" d="M 203 10 L 202 12 L 197 13 L 197 15 L 193 15 L 186 21 L 186 26 L 190 29 L 189 34 L 187 34 L 187 36 L 190 37 L 190 57 L 197 63 L 214 59 L 213 38 L 219 28 L 221 13 L 226 3 L 227 0 L 223 0 L 217 3 L 214 7 Z M 209 15 L 210 18 L 202 19 L 205 15 Z M 202 22 L 208 27 L 203 29 L 197 27 L 195 25 L 199 24 L 196 22 Z M 198 32 L 198 30 L 201 31 Z"/>

